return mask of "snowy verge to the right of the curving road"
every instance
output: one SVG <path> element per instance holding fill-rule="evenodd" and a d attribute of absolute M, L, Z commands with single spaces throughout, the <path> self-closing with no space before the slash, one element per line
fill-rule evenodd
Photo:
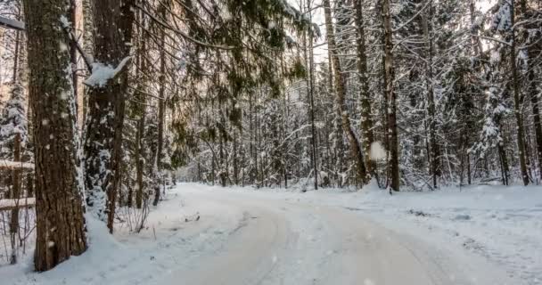
<path fill-rule="evenodd" d="M 437 247 L 481 256 L 525 284 L 542 284 L 540 186 L 477 185 L 390 195 L 369 185 L 355 193 L 324 190 L 286 195 L 347 208 Z"/>

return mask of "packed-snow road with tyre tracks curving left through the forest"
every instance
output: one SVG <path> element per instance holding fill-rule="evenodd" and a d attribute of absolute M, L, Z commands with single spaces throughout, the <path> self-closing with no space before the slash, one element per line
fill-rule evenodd
<path fill-rule="evenodd" d="M 497 275 L 472 276 L 464 260 L 374 224 L 356 208 L 259 194 L 202 185 L 183 191 L 242 211 L 242 219 L 223 248 L 161 284 L 505 284 Z"/>

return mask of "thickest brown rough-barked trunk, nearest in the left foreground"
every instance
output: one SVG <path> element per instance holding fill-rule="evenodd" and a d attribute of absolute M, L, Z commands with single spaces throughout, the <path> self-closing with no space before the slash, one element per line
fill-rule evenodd
<path fill-rule="evenodd" d="M 24 9 L 32 39 L 28 55 L 36 161 L 34 263 L 37 271 L 45 271 L 86 250 L 70 43 L 62 30 L 70 14 L 64 0 L 25 0 Z"/>

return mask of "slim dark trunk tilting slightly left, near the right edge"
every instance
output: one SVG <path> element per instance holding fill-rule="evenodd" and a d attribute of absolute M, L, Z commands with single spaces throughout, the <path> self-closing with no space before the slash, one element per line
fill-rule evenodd
<path fill-rule="evenodd" d="M 515 15 L 514 15 L 514 5 L 515 1 L 511 0 L 510 4 L 510 25 L 514 27 L 515 25 Z M 516 45 L 515 45 L 515 28 L 511 32 L 511 56 L 510 56 L 510 68 L 512 69 L 512 85 L 513 85 L 513 114 L 515 115 L 516 124 L 518 126 L 518 151 L 520 156 L 520 169 L 521 169 L 521 179 L 523 185 L 529 184 L 529 174 L 527 173 L 527 162 L 525 159 L 525 137 L 524 137 L 524 127 L 523 127 L 523 118 L 521 116 L 521 99 L 520 99 L 520 82 L 518 77 L 518 70 L 516 65 Z"/>

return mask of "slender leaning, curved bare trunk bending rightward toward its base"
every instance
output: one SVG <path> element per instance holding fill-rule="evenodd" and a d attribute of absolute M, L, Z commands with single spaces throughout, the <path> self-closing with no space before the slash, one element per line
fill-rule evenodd
<path fill-rule="evenodd" d="M 350 124 L 349 112 L 346 109 L 346 78 L 342 73 L 341 61 L 337 54 L 337 45 L 335 44 L 335 33 L 333 31 L 332 11 L 329 0 L 323 0 L 325 14 L 325 29 L 327 45 L 331 51 L 331 61 L 333 64 L 333 76 L 335 81 L 335 95 L 337 102 L 338 116 L 341 118 L 341 126 L 349 139 L 350 156 L 355 161 L 357 167 L 357 179 L 363 184 L 368 183 L 363 152 L 357 141 L 356 134 Z"/>

